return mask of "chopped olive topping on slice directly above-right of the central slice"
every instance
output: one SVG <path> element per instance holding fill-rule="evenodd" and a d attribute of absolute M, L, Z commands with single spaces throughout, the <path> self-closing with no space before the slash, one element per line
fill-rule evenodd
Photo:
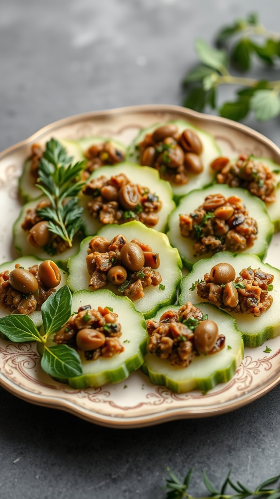
<path fill-rule="evenodd" d="M 257 221 L 249 217 L 241 198 L 209 194 L 192 213 L 179 215 L 181 236 L 194 240 L 193 251 L 201 255 L 211 251 L 244 251 L 257 238 Z"/>

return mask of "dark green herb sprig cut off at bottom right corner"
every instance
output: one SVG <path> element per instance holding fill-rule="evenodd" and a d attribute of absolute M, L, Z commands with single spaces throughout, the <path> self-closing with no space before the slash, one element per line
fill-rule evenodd
<path fill-rule="evenodd" d="M 256 489 L 252 490 L 249 489 L 249 487 L 241 484 L 240 481 L 237 481 L 237 483 L 235 484 L 230 478 L 230 471 L 227 474 L 221 488 L 216 488 L 207 477 L 206 472 L 203 471 L 203 482 L 207 491 L 210 492 L 210 495 L 195 497 L 187 492 L 189 489 L 193 468 L 188 471 L 183 481 L 178 479 L 176 475 L 174 475 L 174 473 L 170 470 L 170 468 L 167 468 L 167 472 L 169 474 L 169 478 L 166 479 L 166 489 L 168 492 L 165 496 L 165 499 L 207 499 L 209 497 L 215 499 L 246 499 L 253 497 L 271 499 L 280 498 L 280 487 L 276 489 L 272 489 L 269 487 L 280 480 L 280 475 L 262 482 Z"/>

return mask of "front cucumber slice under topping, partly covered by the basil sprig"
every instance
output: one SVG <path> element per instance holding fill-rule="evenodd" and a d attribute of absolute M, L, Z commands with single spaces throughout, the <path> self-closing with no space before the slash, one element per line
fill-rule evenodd
<path fill-rule="evenodd" d="M 84 352 L 78 350 L 81 357 L 83 374 L 75 378 L 59 379 L 62 383 L 69 383 L 77 389 L 89 386 L 101 386 L 106 383 L 118 383 L 129 377 L 139 369 L 143 363 L 143 356 L 147 347 L 147 332 L 144 317 L 137 312 L 129 298 L 116 296 L 108 289 L 92 293 L 88 290 L 74 293 L 72 311 L 77 312 L 82 305 L 90 304 L 92 308 L 110 306 L 119 315 L 118 322 L 122 325 L 120 342 L 125 350 L 112 358 L 99 357 L 97 360 L 86 360 Z M 53 335 L 48 338 L 48 346 L 53 346 Z M 42 355 L 42 346 L 37 344 L 37 349 Z"/>

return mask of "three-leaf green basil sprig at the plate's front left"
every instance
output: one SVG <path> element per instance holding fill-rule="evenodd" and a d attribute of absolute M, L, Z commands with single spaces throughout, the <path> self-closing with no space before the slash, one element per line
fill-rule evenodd
<path fill-rule="evenodd" d="M 51 376 L 73 378 L 82 374 L 81 359 L 67 345 L 47 345 L 50 334 L 58 331 L 71 316 L 72 295 L 68 286 L 52 293 L 42 305 L 44 334 L 41 335 L 28 315 L 16 314 L 0 318 L 0 331 L 16 343 L 37 341 L 43 347 L 42 369 Z"/>

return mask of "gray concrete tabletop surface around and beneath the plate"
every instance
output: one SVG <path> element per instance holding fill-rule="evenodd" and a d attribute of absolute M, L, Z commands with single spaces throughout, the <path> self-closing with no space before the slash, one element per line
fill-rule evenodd
<path fill-rule="evenodd" d="M 194 38 L 252 10 L 279 29 L 278 0 L 0 0 L 0 150 L 84 111 L 180 104 Z M 247 123 L 280 145 L 279 119 Z M 277 387 L 231 414 L 121 431 L 0 389 L 0 497 L 163 499 L 166 466 L 196 465 L 196 496 L 204 468 L 217 485 L 229 468 L 256 485 L 279 473 L 279 398 Z"/>

